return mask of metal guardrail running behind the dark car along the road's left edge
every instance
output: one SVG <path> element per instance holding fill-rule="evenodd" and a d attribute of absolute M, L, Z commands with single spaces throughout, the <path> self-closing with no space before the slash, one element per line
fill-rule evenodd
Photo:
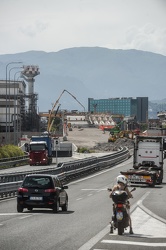
<path fill-rule="evenodd" d="M 115 164 L 123 162 L 130 157 L 129 150 L 121 148 L 120 151 L 101 157 L 89 157 L 77 161 L 64 162 L 60 167 L 47 168 L 42 170 L 31 170 L 26 172 L 16 172 L 0 175 L 0 198 L 14 197 L 18 187 L 27 174 L 53 174 L 58 175 L 64 182 L 80 178 L 95 171 L 113 167 Z"/>

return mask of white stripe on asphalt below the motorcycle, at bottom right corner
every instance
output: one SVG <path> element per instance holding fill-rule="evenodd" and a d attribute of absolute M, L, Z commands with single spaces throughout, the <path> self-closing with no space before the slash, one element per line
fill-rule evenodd
<path fill-rule="evenodd" d="M 148 243 L 148 242 L 138 242 L 138 241 L 102 240 L 101 242 L 107 244 L 123 244 L 123 245 L 136 245 L 136 246 L 149 246 L 149 247 L 166 246 L 166 243 Z"/>

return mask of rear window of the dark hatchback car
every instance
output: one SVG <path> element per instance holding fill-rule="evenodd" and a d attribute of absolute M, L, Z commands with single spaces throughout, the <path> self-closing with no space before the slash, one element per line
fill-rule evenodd
<path fill-rule="evenodd" d="M 23 182 L 24 187 L 32 187 L 32 188 L 41 188 L 41 189 L 46 189 L 46 188 L 53 188 L 53 182 L 50 177 L 32 177 L 28 176 L 25 178 Z"/>

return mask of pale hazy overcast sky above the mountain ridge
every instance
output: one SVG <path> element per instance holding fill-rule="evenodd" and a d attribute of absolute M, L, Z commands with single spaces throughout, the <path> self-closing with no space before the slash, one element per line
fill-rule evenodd
<path fill-rule="evenodd" d="M 95 46 L 166 55 L 166 0 L 0 0 L 0 54 Z"/>

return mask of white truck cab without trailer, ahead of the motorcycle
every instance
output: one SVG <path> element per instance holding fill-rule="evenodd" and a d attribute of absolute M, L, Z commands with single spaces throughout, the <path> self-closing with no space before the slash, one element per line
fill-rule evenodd
<path fill-rule="evenodd" d="M 154 187 L 163 180 L 163 137 L 137 135 L 134 141 L 133 168 L 121 171 L 130 183 Z"/>

